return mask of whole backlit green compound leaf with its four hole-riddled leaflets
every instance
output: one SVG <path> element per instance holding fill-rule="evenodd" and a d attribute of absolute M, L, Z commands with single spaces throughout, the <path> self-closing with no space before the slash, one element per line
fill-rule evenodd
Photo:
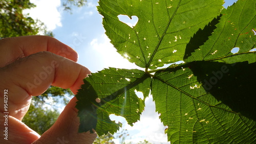
<path fill-rule="evenodd" d="M 225 9 L 222 0 L 100 1 L 111 43 L 145 70 L 108 68 L 84 79 L 76 95 L 79 131 L 116 132 L 121 124 L 110 114 L 132 126 L 151 93 L 168 141 L 255 142 L 255 4 L 239 0 Z M 139 20 L 131 28 L 118 15 Z"/>

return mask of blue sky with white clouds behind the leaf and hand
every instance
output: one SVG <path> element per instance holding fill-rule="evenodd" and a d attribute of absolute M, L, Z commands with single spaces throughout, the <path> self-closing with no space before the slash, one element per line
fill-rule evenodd
<path fill-rule="evenodd" d="M 32 18 L 38 18 L 44 22 L 56 39 L 71 46 L 78 53 L 78 63 L 88 67 L 92 73 L 108 67 L 140 69 L 121 57 L 104 34 L 102 16 L 97 12 L 98 3 L 95 0 L 88 0 L 87 6 L 82 8 L 74 7 L 72 14 L 63 11 L 60 0 L 31 0 L 30 2 L 34 3 L 36 8 L 26 10 L 24 13 L 29 13 Z M 226 0 L 224 7 L 234 2 L 236 0 Z M 125 16 L 119 18 L 129 26 L 135 26 L 138 20 L 136 17 L 132 20 Z M 126 137 L 126 142 L 136 143 L 146 139 L 151 143 L 169 143 L 167 135 L 164 134 L 165 127 L 158 118 L 159 114 L 155 112 L 155 104 L 151 96 L 146 98 L 145 104 L 140 121 L 133 127 L 127 125 L 125 119 L 120 116 L 111 115 L 111 119 L 120 121 L 123 123 L 122 129 L 127 129 L 130 135 Z"/>

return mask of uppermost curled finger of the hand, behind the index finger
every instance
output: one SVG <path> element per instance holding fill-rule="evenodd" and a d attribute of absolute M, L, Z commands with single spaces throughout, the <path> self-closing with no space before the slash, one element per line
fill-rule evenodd
<path fill-rule="evenodd" d="M 78 60 L 77 53 L 68 45 L 49 36 L 22 36 L 0 40 L 0 67 L 31 54 L 42 51 L 52 52 L 73 61 Z"/>

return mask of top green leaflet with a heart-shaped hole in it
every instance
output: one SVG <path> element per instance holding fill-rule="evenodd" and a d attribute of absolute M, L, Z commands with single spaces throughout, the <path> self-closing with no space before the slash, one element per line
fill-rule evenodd
<path fill-rule="evenodd" d="M 190 37 L 219 15 L 222 4 L 223 0 L 110 0 L 100 1 L 98 11 L 117 52 L 140 67 L 156 69 L 183 60 Z M 118 15 L 139 20 L 131 28 Z"/>

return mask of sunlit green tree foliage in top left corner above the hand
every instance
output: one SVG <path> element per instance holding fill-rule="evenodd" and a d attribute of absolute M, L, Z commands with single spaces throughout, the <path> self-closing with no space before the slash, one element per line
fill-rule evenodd
<path fill-rule="evenodd" d="M 0 38 L 36 35 L 39 31 L 47 33 L 44 23 L 22 13 L 24 9 L 33 7 L 35 5 L 29 0 L 1 0 Z"/>

